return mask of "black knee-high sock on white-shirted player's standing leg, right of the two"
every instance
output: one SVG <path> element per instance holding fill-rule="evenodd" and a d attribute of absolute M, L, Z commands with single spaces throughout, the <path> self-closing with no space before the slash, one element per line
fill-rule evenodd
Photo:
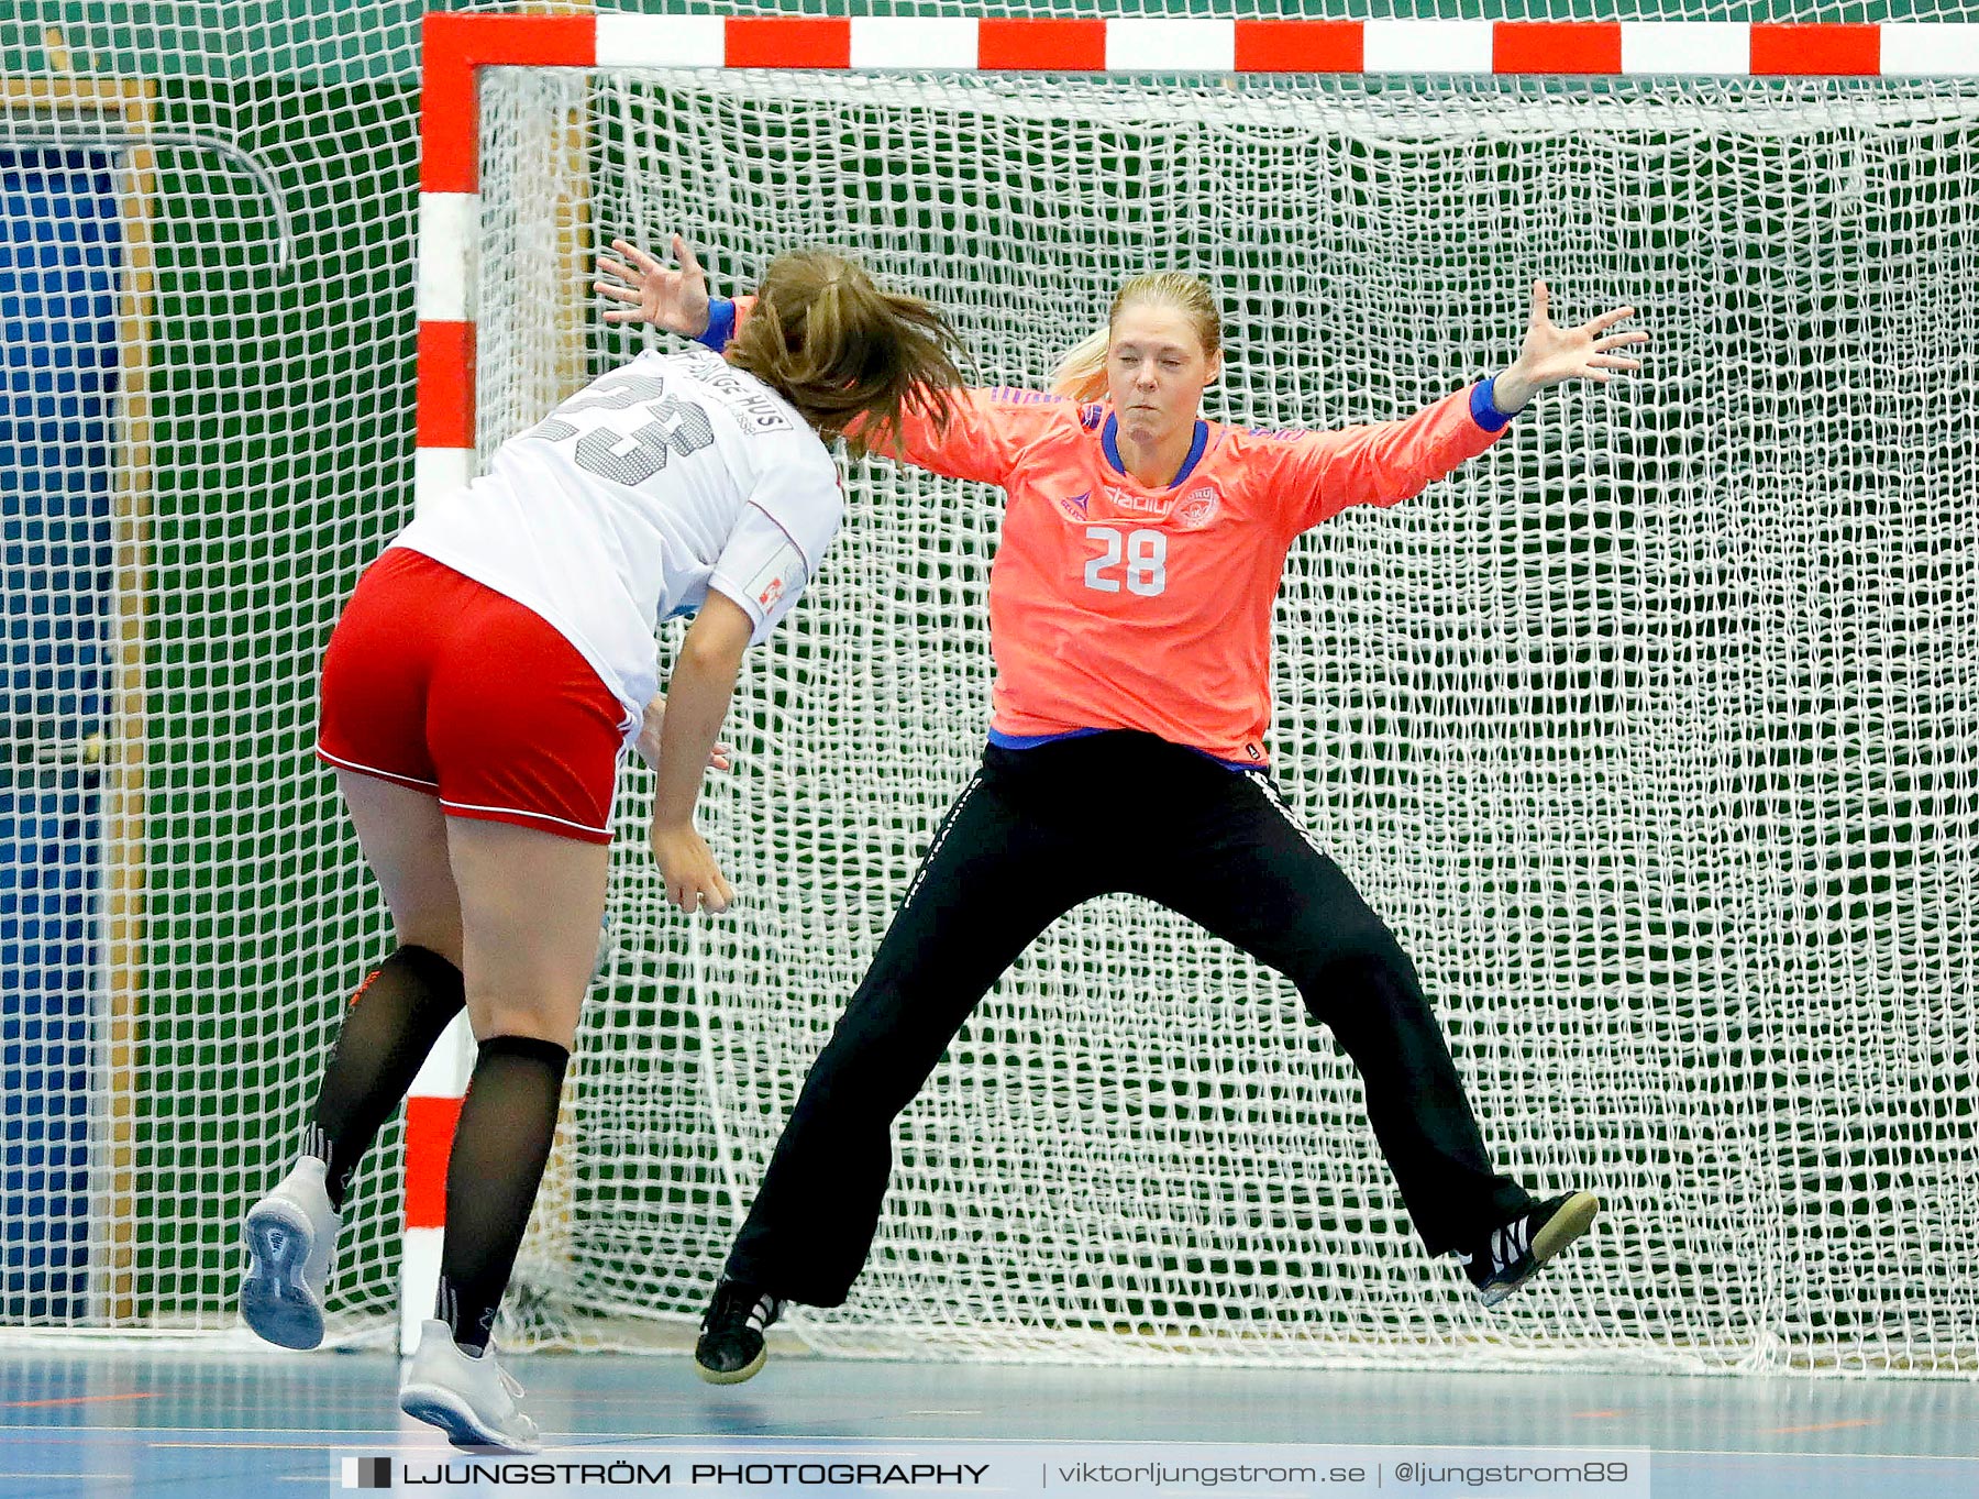
<path fill-rule="evenodd" d="M 481 1352 L 528 1228 L 556 1135 L 570 1051 L 530 1036 L 489 1036 L 467 1081 L 447 1160 L 447 1234 L 435 1317 Z"/>

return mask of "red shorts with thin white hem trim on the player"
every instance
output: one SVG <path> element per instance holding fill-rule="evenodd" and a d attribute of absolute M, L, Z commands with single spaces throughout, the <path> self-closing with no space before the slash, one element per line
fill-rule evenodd
<path fill-rule="evenodd" d="M 550 624 L 443 562 L 372 562 L 323 655 L 317 754 L 451 818 L 612 842 L 625 707 Z"/>

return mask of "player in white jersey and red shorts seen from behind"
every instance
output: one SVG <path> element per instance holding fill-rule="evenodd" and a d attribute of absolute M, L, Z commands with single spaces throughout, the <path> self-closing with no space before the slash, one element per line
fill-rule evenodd
<path fill-rule="evenodd" d="M 617 246 L 641 271 L 657 265 Z M 707 321 L 699 267 L 681 240 L 675 253 L 693 273 L 653 295 L 699 297 Z M 669 899 L 724 911 L 730 889 L 693 810 L 705 766 L 726 764 L 714 741 L 742 651 L 837 533 L 825 440 L 847 424 L 896 430 L 902 410 L 946 420 L 956 347 L 936 311 L 851 261 L 780 255 L 726 356 L 645 352 L 594 380 L 364 572 L 325 653 L 317 752 L 336 768 L 398 947 L 344 1014 L 301 1160 L 247 1214 L 241 1313 L 255 1333 L 323 1341 L 350 1174 L 465 1006 L 477 1057 L 447 1164 L 439 1305 L 400 1406 L 459 1446 L 534 1449 L 489 1333 L 596 960 L 619 754 L 637 747 L 657 770 L 651 848 Z M 661 697 L 655 628 L 689 614 Z"/>

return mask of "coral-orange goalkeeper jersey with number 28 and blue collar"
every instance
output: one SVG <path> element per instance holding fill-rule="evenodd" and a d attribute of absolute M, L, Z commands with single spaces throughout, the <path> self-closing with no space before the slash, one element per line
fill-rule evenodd
<path fill-rule="evenodd" d="M 1348 505 L 1409 499 L 1502 432 L 1478 388 L 1403 422 L 1298 432 L 1195 424 L 1176 479 L 1136 483 L 1112 406 L 968 390 L 904 455 L 1009 495 L 990 566 L 991 735 L 1140 729 L 1263 764 L 1271 612 L 1292 539 Z M 1488 394 L 1488 392 L 1486 392 Z"/>

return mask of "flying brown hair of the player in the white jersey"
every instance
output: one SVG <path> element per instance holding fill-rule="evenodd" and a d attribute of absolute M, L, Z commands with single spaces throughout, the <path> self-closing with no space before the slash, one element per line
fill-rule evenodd
<path fill-rule="evenodd" d="M 829 250 L 790 250 L 764 271 L 728 362 L 780 392 L 821 438 L 867 453 L 895 442 L 906 410 L 948 426 L 960 350 L 960 335 L 920 297 L 883 291 Z"/>

